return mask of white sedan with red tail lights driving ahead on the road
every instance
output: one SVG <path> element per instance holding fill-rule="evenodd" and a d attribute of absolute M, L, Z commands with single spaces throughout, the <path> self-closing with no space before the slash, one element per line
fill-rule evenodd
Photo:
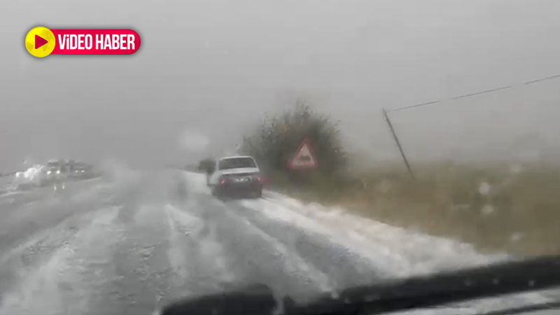
<path fill-rule="evenodd" d="M 255 159 L 251 156 L 230 156 L 221 158 L 207 169 L 207 185 L 212 195 L 262 196 L 264 178 Z"/>

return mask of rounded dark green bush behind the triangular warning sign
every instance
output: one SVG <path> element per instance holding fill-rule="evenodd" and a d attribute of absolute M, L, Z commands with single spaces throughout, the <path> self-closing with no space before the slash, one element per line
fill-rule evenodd
<path fill-rule="evenodd" d="M 288 168 L 288 160 L 293 158 L 303 139 L 309 141 L 318 167 L 293 171 Z M 320 182 L 321 186 L 328 186 L 339 181 L 346 164 L 337 123 L 301 102 L 291 111 L 265 118 L 253 134 L 244 137 L 241 151 L 258 160 L 273 184 L 318 186 Z"/>

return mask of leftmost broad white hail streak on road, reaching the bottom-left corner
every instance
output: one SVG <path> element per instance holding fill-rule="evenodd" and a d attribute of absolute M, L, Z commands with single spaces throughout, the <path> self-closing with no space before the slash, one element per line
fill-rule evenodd
<path fill-rule="evenodd" d="M 110 265 L 117 237 L 114 221 L 119 209 L 100 209 L 46 257 L 18 269 L 18 284 L 3 293 L 0 314 L 90 314 L 87 305 L 97 294 L 99 265 Z"/>

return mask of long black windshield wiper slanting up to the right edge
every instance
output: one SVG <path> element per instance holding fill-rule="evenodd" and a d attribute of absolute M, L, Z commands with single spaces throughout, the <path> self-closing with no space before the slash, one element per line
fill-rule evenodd
<path fill-rule="evenodd" d="M 382 314 L 560 286 L 560 256 L 414 276 L 344 290 L 337 300 L 295 307 L 290 314 Z"/>

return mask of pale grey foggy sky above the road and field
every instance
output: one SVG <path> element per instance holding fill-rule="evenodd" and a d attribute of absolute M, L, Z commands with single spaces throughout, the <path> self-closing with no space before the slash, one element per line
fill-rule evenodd
<path fill-rule="evenodd" d="M 0 9 L 0 172 L 25 158 L 134 166 L 235 148 L 297 98 L 340 120 L 351 152 L 412 161 L 560 153 L 557 0 L 11 1 Z M 132 28 L 132 56 L 37 59 L 35 26 Z M 183 135 L 183 137 L 181 136 Z"/>

